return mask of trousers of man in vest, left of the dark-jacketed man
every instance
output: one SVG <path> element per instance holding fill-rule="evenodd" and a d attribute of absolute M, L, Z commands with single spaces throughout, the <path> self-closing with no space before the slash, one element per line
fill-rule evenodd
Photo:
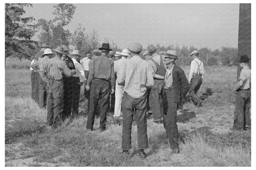
<path fill-rule="evenodd" d="M 164 80 L 154 79 L 154 85 L 153 87 L 151 87 L 150 91 L 150 97 L 152 98 L 152 111 L 154 122 L 161 121 L 163 91 Z"/>

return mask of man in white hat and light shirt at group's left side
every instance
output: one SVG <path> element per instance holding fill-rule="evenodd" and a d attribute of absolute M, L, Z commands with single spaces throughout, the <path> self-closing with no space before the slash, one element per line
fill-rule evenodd
<path fill-rule="evenodd" d="M 44 67 L 49 62 L 50 58 L 54 53 L 50 48 L 46 48 L 44 53 L 42 53 L 42 58 L 39 58 L 38 61 L 31 64 L 31 68 L 39 72 L 40 79 L 39 79 L 39 107 L 45 108 L 47 104 L 47 80 L 44 76 Z"/>

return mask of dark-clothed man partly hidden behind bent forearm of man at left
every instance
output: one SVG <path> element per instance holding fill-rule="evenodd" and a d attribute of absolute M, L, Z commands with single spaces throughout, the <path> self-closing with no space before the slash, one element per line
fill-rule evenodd
<path fill-rule="evenodd" d="M 63 47 L 64 53 L 61 57 L 62 61 L 65 61 L 66 66 L 68 66 L 69 69 L 75 69 L 74 68 L 74 62 L 71 60 L 69 55 L 70 49 L 66 47 L 66 45 L 61 45 Z M 63 75 L 63 83 L 64 83 L 64 92 L 63 92 L 63 117 L 62 119 L 65 120 L 66 118 L 70 117 L 71 115 L 71 107 L 72 107 L 72 84 L 73 84 L 73 78 L 72 77 L 66 77 Z"/>

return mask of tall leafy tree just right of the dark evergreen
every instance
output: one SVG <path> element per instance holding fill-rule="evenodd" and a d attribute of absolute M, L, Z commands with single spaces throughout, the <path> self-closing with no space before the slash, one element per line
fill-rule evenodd
<path fill-rule="evenodd" d="M 52 14 L 55 15 L 53 20 L 39 19 L 38 25 L 41 28 L 39 41 L 56 47 L 57 45 L 68 45 L 70 31 L 64 27 L 68 25 L 73 18 L 76 7 L 73 4 L 57 4 Z"/>

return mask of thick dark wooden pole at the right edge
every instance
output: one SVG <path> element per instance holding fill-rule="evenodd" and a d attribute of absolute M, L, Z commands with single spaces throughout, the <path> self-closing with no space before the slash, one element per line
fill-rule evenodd
<path fill-rule="evenodd" d="M 238 58 L 241 55 L 246 54 L 250 58 L 250 41 L 251 41 L 251 7 L 250 4 L 240 4 L 239 5 L 239 31 L 238 31 Z M 238 64 L 237 79 L 241 68 Z"/>

